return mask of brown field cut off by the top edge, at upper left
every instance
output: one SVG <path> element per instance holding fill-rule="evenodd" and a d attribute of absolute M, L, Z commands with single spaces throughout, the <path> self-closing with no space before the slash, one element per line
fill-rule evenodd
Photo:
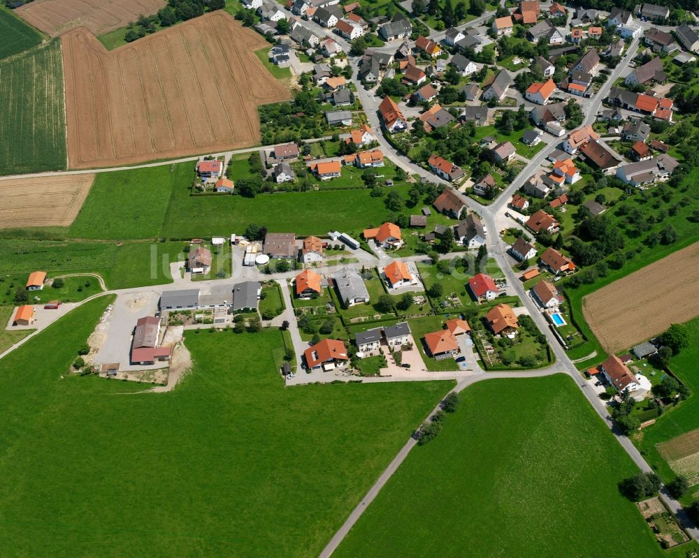
<path fill-rule="evenodd" d="M 52 37 L 76 27 L 101 35 L 156 13 L 166 0 L 34 0 L 15 10 L 24 20 Z"/>

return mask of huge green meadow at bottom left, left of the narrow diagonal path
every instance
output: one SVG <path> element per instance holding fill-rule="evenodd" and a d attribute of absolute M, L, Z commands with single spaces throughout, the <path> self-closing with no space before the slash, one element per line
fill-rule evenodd
<path fill-rule="evenodd" d="M 2 555 L 316 556 L 454 385 L 284 389 L 278 330 L 188 332 L 173 392 L 110 397 L 142 386 L 65 376 L 108 302 L 0 361 Z"/>

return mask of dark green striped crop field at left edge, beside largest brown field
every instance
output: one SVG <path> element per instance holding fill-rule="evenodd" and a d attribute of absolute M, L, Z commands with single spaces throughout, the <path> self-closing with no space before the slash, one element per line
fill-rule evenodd
<path fill-rule="evenodd" d="M 66 168 L 59 39 L 0 62 L 0 105 L 0 175 Z"/>

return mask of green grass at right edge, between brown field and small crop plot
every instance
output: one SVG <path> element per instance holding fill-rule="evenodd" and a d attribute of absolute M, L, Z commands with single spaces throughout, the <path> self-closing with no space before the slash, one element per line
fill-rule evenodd
<path fill-rule="evenodd" d="M 675 473 L 672 473 L 656 450 L 656 444 L 699 428 L 699 378 L 696 374 L 696 363 L 699 360 L 699 318 L 694 318 L 687 325 L 691 333 L 691 342 L 679 355 L 670 359 L 670 369 L 689 387 L 692 395 L 676 409 L 665 409 L 663 416 L 658 418 L 654 425 L 644 428 L 642 436 L 636 440 L 641 453 L 665 482 L 675 478 Z"/>

